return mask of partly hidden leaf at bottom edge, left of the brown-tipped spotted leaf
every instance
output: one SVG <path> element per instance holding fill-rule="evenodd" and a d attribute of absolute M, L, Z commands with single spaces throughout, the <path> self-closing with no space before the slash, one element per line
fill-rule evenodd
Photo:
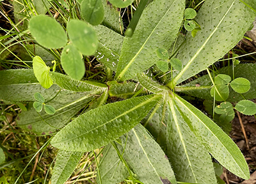
<path fill-rule="evenodd" d="M 124 181 L 129 173 L 122 161 L 119 159 L 115 148 L 109 144 L 102 152 L 100 159 L 99 171 L 101 182 L 104 184 L 120 183 Z M 97 183 L 99 182 L 99 174 L 97 174 Z"/>

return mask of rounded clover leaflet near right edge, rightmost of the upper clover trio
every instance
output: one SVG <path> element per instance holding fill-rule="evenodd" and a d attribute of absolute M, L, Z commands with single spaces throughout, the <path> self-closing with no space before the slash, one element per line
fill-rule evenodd
<path fill-rule="evenodd" d="M 231 81 L 230 86 L 235 92 L 243 94 L 250 90 L 251 83 L 246 78 L 236 78 L 235 80 Z"/>

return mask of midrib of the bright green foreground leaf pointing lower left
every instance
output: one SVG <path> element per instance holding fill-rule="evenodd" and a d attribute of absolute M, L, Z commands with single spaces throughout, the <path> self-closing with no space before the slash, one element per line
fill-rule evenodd
<path fill-rule="evenodd" d="M 143 105 L 145 105 L 145 104 L 147 104 L 147 103 L 150 103 L 150 101 L 154 100 L 154 98 L 157 98 L 157 97 L 159 97 L 159 96 L 157 96 L 157 95 L 156 95 L 156 96 L 153 96 L 153 97 L 147 99 L 147 101 L 144 101 L 143 103 L 140 103 L 138 106 L 135 106 L 134 108 L 131 108 L 131 109 L 128 110 L 128 111 L 125 111 L 125 112 L 122 113 L 121 115 L 118 115 L 117 117 L 115 117 L 115 118 L 109 120 L 108 122 L 106 122 L 106 123 L 104 123 L 104 124 L 101 124 L 101 125 L 99 125 L 99 126 L 93 128 L 93 129 L 90 129 L 89 131 L 84 132 L 83 134 L 80 134 L 79 136 L 76 136 L 76 137 L 74 137 L 74 138 L 67 139 L 67 140 L 65 140 L 65 141 L 60 140 L 60 141 L 56 142 L 55 144 L 57 144 L 57 143 L 65 143 L 65 142 L 67 142 L 67 141 L 71 141 L 71 140 L 73 140 L 73 139 L 76 139 L 76 138 L 79 138 L 79 137 L 81 137 L 81 136 L 84 136 L 84 134 L 88 134 L 88 132 L 92 132 L 92 131 L 94 131 L 95 129 L 98 129 L 99 127 L 102 127 L 102 126 L 104 126 L 104 125 L 106 125 L 106 124 L 108 124 L 108 123 L 110 123 L 110 122 L 113 122 L 113 121 L 116 120 L 117 118 L 120 118 L 120 117 L 126 115 L 127 113 L 130 113 L 131 111 L 134 111 L 134 110 L 136 110 L 137 108 L 140 108 L 141 106 L 143 106 Z"/>

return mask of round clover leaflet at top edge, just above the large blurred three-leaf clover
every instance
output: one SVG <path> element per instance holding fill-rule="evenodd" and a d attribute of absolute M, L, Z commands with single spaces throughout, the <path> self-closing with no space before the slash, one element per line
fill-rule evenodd
<path fill-rule="evenodd" d="M 100 24 L 104 19 L 102 0 L 83 0 L 81 3 L 81 15 L 86 22 L 92 25 Z"/>

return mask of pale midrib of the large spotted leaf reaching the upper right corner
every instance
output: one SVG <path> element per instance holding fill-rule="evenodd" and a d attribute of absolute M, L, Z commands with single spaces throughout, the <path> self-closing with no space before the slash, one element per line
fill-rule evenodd
<path fill-rule="evenodd" d="M 231 4 L 231 6 L 228 8 L 227 12 L 225 13 L 225 15 L 223 15 L 223 17 L 221 18 L 219 24 L 214 28 L 214 30 L 212 31 L 212 33 L 208 36 L 208 38 L 205 40 L 204 44 L 196 51 L 195 55 L 191 58 L 191 60 L 189 60 L 188 64 L 186 64 L 186 66 L 180 71 L 179 74 L 177 74 L 177 76 L 173 79 L 173 83 L 176 85 L 177 81 L 179 81 L 179 79 L 183 76 L 183 74 L 188 70 L 189 66 L 192 64 L 192 62 L 196 59 L 196 57 L 199 55 L 199 53 L 203 50 L 203 48 L 205 47 L 205 45 L 207 44 L 207 42 L 211 39 L 212 35 L 218 30 L 218 28 L 220 27 L 220 24 L 223 22 L 224 18 L 227 16 L 228 12 L 230 11 L 230 9 L 232 8 L 232 6 L 234 5 L 235 0 L 233 1 L 233 3 Z"/>

